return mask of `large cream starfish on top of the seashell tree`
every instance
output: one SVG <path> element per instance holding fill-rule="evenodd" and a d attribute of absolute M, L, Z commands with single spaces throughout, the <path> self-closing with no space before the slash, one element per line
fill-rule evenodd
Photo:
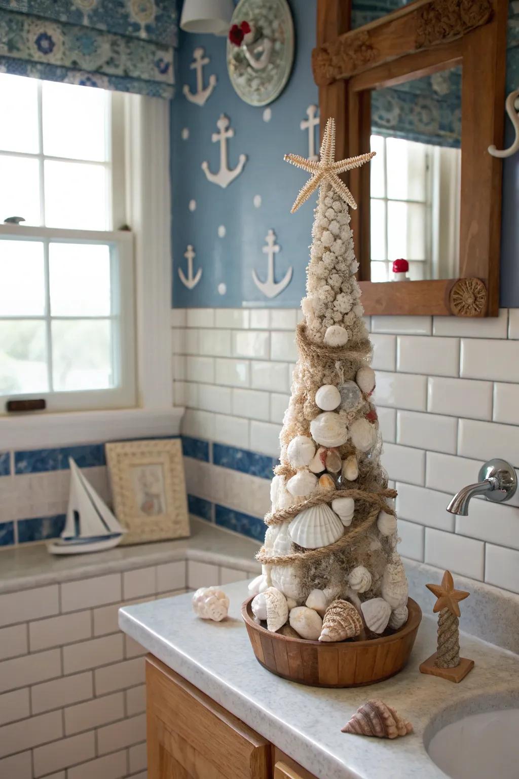
<path fill-rule="evenodd" d="M 366 154 L 360 154 L 359 157 L 349 157 L 347 160 L 335 161 L 335 119 L 328 119 L 324 129 L 323 142 L 321 143 L 320 160 L 307 160 L 306 157 L 300 157 L 299 154 L 286 154 L 284 157 L 286 162 L 290 162 L 296 167 L 301 167 L 303 171 L 311 174 L 311 178 L 300 189 L 300 193 L 290 213 L 294 213 L 305 203 L 312 192 L 314 192 L 314 189 L 320 187 L 324 182 L 328 182 L 338 196 L 342 197 L 351 208 L 356 208 L 357 204 L 352 197 L 352 193 L 338 176 L 341 173 L 345 173 L 345 171 L 351 171 L 352 167 L 360 167 L 374 156 L 375 152 L 370 151 Z"/>

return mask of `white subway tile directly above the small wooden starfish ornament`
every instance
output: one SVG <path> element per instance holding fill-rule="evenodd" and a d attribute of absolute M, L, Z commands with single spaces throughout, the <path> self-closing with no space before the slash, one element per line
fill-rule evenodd
<path fill-rule="evenodd" d="M 451 573 L 483 580 L 485 545 L 482 541 L 426 527 L 424 562 Z"/>

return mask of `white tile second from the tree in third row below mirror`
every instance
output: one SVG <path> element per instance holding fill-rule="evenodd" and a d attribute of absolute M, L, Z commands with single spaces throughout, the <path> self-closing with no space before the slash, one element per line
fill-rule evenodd
<path fill-rule="evenodd" d="M 492 382 L 430 376 L 427 383 L 427 409 L 435 414 L 490 419 L 492 389 Z"/>

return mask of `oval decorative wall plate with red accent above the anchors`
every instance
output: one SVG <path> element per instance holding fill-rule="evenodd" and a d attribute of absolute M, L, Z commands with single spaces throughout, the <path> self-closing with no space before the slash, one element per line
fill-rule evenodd
<path fill-rule="evenodd" d="M 227 69 L 245 103 L 267 105 L 279 97 L 292 70 L 293 52 L 286 0 L 240 0 L 227 39 Z"/>

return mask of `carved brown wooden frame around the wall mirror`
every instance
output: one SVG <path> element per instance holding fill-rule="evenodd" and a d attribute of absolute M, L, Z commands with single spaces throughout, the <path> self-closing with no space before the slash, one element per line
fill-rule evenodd
<path fill-rule="evenodd" d="M 497 316 L 499 312 L 507 0 L 416 0 L 351 30 L 352 0 L 317 0 L 321 133 L 337 126 L 336 158 L 370 150 L 370 90 L 461 65 L 461 213 L 458 279 L 373 283 L 370 167 L 349 173 L 359 205 L 352 229 L 366 315 Z"/>

